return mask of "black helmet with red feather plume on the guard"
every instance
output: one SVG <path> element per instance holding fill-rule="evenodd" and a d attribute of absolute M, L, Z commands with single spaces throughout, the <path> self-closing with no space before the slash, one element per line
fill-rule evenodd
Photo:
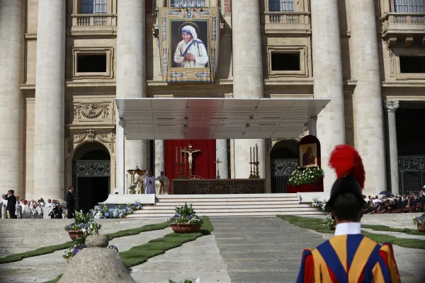
<path fill-rule="evenodd" d="M 365 203 L 361 192 L 365 185 L 365 168 L 356 149 L 348 144 L 336 146 L 329 158 L 329 167 L 334 169 L 338 179 L 331 188 L 331 197 L 325 209 L 329 210 L 337 197 L 348 193 Z"/>

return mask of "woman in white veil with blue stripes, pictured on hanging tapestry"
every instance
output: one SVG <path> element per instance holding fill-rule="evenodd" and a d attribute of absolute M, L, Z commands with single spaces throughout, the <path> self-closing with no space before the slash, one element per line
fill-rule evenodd
<path fill-rule="evenodd" d="M 183 40 L 174 52 L 174 62 L 181 68 L 205 68 L 208 64 L 208 52 L 195 28 L 191 25 L 183 26 L 181 37 Z"/>

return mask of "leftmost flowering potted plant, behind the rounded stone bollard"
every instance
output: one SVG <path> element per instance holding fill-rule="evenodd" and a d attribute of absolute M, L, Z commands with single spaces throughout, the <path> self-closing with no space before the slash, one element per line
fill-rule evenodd
<path fill-rule="evenodd" d="M 72 224 L 65 226 L 65 231 L 69 233 L 69 238 L 77 240 L 88 235 L 97 235 L 101 224 L 98 224 L 93 219 L 90 219 L 90 214 L 83 212 L 75 212 L 75 219 Z"/>

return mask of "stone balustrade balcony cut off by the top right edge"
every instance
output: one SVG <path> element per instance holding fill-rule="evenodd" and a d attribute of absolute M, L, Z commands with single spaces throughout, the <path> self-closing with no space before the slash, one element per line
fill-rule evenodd
<path fill-rule="evenodd" d="M 386 13 L 382 17 L 382 37 L 425 35 L 425 13 Z"/>

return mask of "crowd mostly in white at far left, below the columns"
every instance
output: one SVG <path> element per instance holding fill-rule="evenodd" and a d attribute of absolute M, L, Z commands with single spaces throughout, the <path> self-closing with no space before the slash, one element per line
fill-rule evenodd
<path fill-rule="evenodd" d="M 11 218 L 6 212 L 8 200 L 6 200 L 6 195 L 1 195 L 1 219 Z M 48 208 L 52 209 L 48 209 Z M 19 196 L 16 195 L 16 218 L 21 219 L 62 219 L 67 215 L 66 207 L 62 207 L 62 204 L 58 200 L 19 200 Z M 44 214 L 47 214 L 46 216 Z"/>

